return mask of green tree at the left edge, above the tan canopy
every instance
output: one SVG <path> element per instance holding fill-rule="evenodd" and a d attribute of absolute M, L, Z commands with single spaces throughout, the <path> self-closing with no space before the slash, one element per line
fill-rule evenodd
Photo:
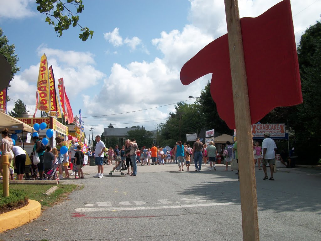
<path fill-rule="evenodd" d="M 14 53 L 14 44 L 9 45 L 9 40 L 7 36 L 3 35 L 2 28 L 0 28 L 0 54 L 2 54 L 11 65 L 11 79 L 13 76 L 20 71 L 20 68 L 17 67 L 17 62 L 19 60 L 18 55 Z M 10 87 L 10 85 L 8 86 Z M 7 101 L 10 101 L 9 96 L 7 96 Z"/>

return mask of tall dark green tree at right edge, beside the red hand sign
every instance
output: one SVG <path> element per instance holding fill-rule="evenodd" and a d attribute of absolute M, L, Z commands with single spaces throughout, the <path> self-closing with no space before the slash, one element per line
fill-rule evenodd
<path fill-rule="evenodd" d="M 310 26 L 301 36 L 298 60 L 303 103 L 296 106 L 292 118 L 296 137 L 296 154 L 305 157 L 307 164 L 316 164 L 321 158 L 321 23 Z M 309 152 L 307 156 L 306 148 Z M 309 163 L 308 163 L 309 162 Z"/>

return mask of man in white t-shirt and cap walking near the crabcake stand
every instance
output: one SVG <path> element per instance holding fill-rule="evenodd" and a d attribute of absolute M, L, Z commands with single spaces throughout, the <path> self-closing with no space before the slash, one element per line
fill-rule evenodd
<path fill-rule="evenodd" d="M 262 142 L 262 165 L 263 165 L 263 171 L 264 171 L 264 178 L 263 180 L 268 179 L 267 173 L 266 173 L 266 164 L 269 163 L 270 165 L 270 171 L 271 171 L 271 177 L 269 180 L 273 181 L 273 172 L 274 172 L 274 165 L 275 165 L 275 154 L 276 154 L 276 145 L 275 142 L 270 138 L 270 133 L 265 132 L 264 133 L 264 140 Z"/>

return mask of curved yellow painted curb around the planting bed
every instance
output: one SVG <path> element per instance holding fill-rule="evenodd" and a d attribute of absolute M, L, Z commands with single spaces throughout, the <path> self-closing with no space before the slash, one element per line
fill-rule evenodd
<path fill-rule="evenodd" d="M 41 205 L 38 201 L 29 200 L 29 204 L 21 209 L 0 214 L 0 233 L 18 228 L 40 216 Z"/>

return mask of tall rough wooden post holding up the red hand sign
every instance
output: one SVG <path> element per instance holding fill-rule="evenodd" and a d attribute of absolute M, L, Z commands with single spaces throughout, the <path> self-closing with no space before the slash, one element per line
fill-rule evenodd
<path fill-rule="evenodd" d="M 260 238 L 257 218 L 251 115 L 247 92 L 247 76 L 239 19 L 239 6 L 237 0 L 225 0 L 224 2 L 238 142 L 243 240 L 258 241 Z"/>

